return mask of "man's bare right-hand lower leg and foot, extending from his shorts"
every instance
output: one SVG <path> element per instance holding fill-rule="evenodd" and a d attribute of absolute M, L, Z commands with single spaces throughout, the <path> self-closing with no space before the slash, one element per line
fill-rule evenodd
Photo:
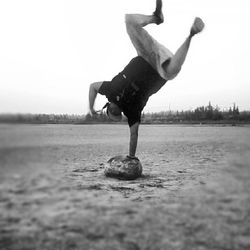
<path fill-rule="evenodd" d="M 203 21 L 197 17 L 194 21 L 194 24 L 191 28 L 188 38 L 176 51 L 171 60 L 167 61 L 166 63 L 163 63 L 162 67 L 166 71 L 166 75 L 168 75 L 170 79 L 176 76 L 180 72 L 181 67 L 186 59 L 192 37 L 197 33 L 200 33 L 203 30 L 203 28 L 204 28 Z"/>

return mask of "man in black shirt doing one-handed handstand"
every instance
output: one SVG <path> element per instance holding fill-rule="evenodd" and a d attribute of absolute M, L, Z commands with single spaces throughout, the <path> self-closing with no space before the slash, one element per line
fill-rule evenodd
<path fill-rule="evenodd" d="M 126 14 L 125 19 L 127 33 L 138 56 L 133 58 L 112 81 L 95 82 L 90 85 L 89 108 L 92 115 L 96 114 L 94 103 L 99 93 L 105 95 L 109 101 L 104 108 L 107 108 L 110 119 L 120 121 L 123 112 L 130 127 L 128 156 L 136 158 L 138 129 L 144 106 L 152 94 L 179 73 L 191 39 L 203 30 L 204 23 L 200 18 L 195 18 L 189 36 L 176 53 L 172 54 L 143 28 L 151 23 L 163 23 L 161 0 L 156 0 L 156 9 L 152 15 Z"/>

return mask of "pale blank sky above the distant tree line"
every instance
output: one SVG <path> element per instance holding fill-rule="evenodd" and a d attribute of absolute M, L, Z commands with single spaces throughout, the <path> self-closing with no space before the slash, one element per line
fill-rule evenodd
<path fill-rule="evenodd" d="M 89 85 L 109 81 L 136 56 L 126 13 L 155 0 L 0 0 L 0 113 L 86 114 Z M 194 17 L 206 24 L 179 75 L 145 112 L 236 103 L 250 110 L 249 0 L 163 0 L 165 22 L 146 30 L 173 53 Z M 96 109 L 106 98 L 98 95 Z"/>

